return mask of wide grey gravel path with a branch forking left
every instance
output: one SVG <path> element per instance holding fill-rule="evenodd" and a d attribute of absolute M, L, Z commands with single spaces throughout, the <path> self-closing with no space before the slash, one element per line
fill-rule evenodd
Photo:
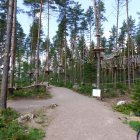
<path fill-rule="evenodd" d="M 113 112 L 106 102 L 76 92 L 51 87 L 51 99 L 20 99 L 8 101 L 8 106 L 22 114 L 41 116 L 42 124 L 30 123 L 46 131 L 44 140 L 135 140 L 136 132 L 123 124 L 123 117 Z M 41 115 L 42 114 L 42 115 Z M 45 121 L 47 119 L 47 122 Z"/>

